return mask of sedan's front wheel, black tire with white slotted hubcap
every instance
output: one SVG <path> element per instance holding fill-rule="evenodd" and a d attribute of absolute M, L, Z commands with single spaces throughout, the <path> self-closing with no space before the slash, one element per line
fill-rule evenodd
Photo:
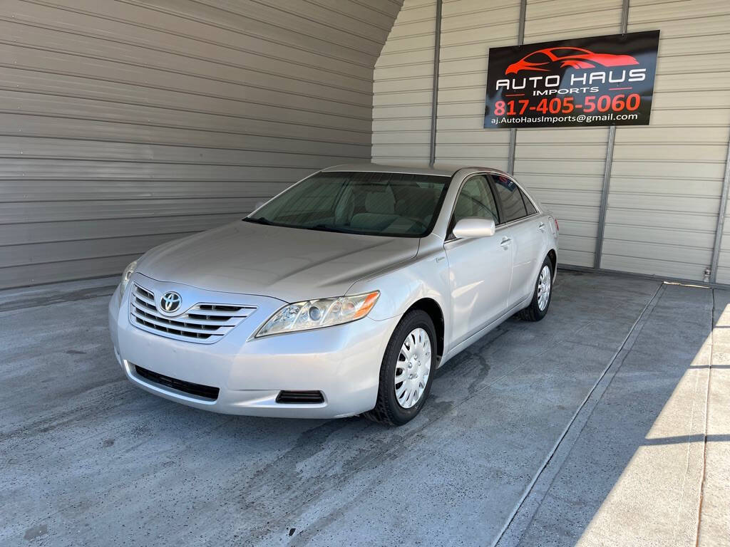
<path fill-rule="evenodd" d="M 418 334 L 418 339 L 413 343 L 414 333 Z M 424 349 L 425 338 L 428 337 L 428 345 L 430 351 L 426 356 Z M 401 354 L 401 349 L 406 347 L 407 338 L 410 339 L 410 347 L 414 348 L 412 360 L 408 360 L 406 355 Z M 418 415 L 423 403 L 429 397 L 431 384 L 434 381 L 434 373 L 436 372 L 436 329 L 431 317 L 423 310 L 412 310 L 407 312 L 396 326 L 388 346 L 385 348 L 383 362 L 380 365 L 380 384 L 377 389 L 377 400 L 372 411 L 364 414 L 367 419 L 374 422 L 380 422 L 385 425 L 403 425 L 410 422 Z M 404 357 L 405 359 L 401 359 Z M 407 365 L 412 368 L 410 373 Z M 428 371 L 426 371 L 428 364 Z M 399 371 L 399 372 L 398 372 Z M 404 381 L 396 381 L 396 373 L 404 377 Z M 428 373 L 425 385 L 423 384 L 423 376 Z M 420 374 L 420 376 L 419 376 Z M 418 381 L 418 380 L 421 381 Z M 412 387 L 412 389 L 411 389 Z M 407 397 L 409 392 L 418 390 L 415 395 Z M 396 393 L 399 392 L 399 393 Z M 399 401 L 399 397 L 401 401 Z M 410 406 L 409 406 L 410 405 Z"/>

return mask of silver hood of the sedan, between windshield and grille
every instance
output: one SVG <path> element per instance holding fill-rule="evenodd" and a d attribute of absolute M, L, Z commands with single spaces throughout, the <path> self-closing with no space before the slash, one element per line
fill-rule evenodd
<path fill-rule="evenodd" d="M 238 221 L 155 247 L 137 271 L 158 281 L 296 302 L 344 295 L 358 279 L 415 257 L 418 242 Z"/>

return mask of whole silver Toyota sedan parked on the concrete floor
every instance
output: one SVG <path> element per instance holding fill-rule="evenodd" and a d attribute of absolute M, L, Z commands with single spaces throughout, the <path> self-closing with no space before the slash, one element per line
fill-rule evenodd
<path fill-rule="evenodd" d="M 451 357 L 545 317 L 557 249 L 502 171 L 331 167 L 128 265 L 112 341 L 128 379 L 178 403 L 404 424 Z"/>

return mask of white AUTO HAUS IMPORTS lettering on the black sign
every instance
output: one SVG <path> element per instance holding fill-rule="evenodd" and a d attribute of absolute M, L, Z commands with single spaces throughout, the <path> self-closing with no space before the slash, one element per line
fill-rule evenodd
<path fill-rule="evenodd" d="M 573 93 L 598 93 L 595 84 L 621 84 L 623 82 L 643 82 L 646 69 L 610 70 L 570 74 L 569 87 L 561 87 L 562 78 L 556 74 L 550 76 L 533 76 L 525 78 L 504 78 L 496 81 L 496 90 L 525 90 L 531 82 L 532 95 L 570 95 Z M 576 87 L 573 87 L 576 86 Z M 544 89 L 538 89 L 542 87 Z"/>

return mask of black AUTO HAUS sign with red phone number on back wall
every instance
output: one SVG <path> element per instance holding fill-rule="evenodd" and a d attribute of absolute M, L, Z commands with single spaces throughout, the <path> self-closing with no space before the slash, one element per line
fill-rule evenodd
<path fill-rule="evenodd" d="M 647 125 L 659 31 L 489 50 L 485 128 Z"/>

